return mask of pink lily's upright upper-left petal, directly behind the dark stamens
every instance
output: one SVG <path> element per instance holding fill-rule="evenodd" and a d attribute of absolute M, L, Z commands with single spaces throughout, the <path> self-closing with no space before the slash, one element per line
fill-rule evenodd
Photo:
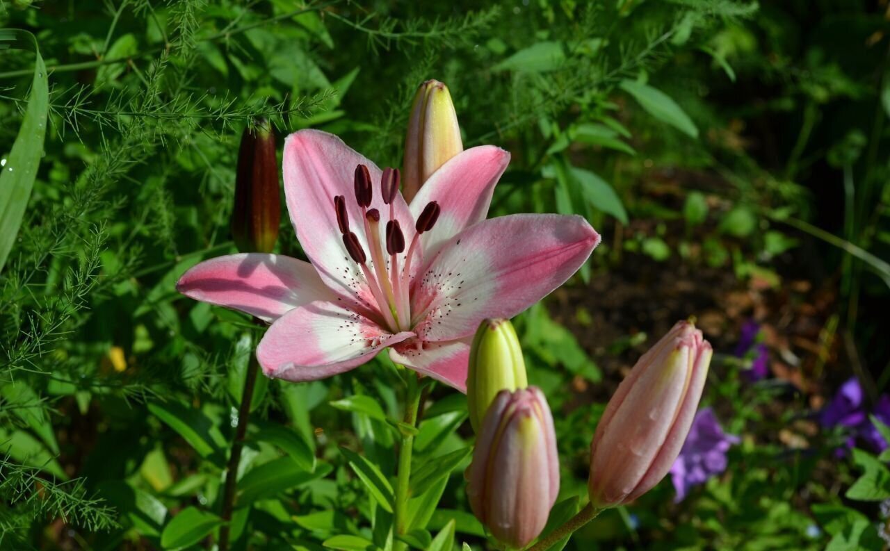
<path fill-rule="evenodd" d="M 380 195 L 382 172 L 376 164 L 328 132 L 301 130 L 287 136 L 285 141 L 283 165 L 287 212 L 303 251 L 331 289 L 341 297 L 367 307 L 376 303 L 360 269 L 346 252 L 334 210 L 334 197 L 344 196 L 350 228 L 368 256 L 368 265 L 373 266 L 361 209 L 355 201 L 354 174 L 359 164 L 368 167 L 374 186 L 368 208 L 380 212 L 384 227 L 385 221 L 389 220 L 389 205 L 384 204 Z M 415 228 L 408 205 L 397 196 L 392 206 L 394 217 L 410 242 Z M 380 243 L 385 251 L 384 232 L 380 233 Z"/>

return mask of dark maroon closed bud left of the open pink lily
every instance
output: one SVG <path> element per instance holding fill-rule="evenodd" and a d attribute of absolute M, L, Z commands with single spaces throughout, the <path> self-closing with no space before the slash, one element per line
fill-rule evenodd
<path fill-rule="evenodd" d="M 240 252 L 271 252 L 281 220 L 275 131 L 260 119 L 241 135 L 231 234 Z"/>

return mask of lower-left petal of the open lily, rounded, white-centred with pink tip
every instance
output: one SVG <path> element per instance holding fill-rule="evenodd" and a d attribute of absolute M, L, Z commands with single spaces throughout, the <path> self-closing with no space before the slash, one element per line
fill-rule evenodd
<path fill-rule="evenodd" d="M 410 339 L 392 334 L 335 301 L 317 300 L 272 323 L 256 347 L 263 373 L 292 381 L 324 379 L 368 362 L 384 347 Z"/>

